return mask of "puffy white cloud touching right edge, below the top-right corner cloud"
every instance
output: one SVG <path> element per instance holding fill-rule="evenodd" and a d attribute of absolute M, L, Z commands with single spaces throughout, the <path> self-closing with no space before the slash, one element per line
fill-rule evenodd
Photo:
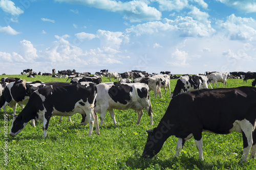
<path fill-rule="evenodd" d="M 236 17 L 234 14 L 221 21 L 223 32 L 231 40 L 256 40 L 256 20 L 252 18 Z"/>

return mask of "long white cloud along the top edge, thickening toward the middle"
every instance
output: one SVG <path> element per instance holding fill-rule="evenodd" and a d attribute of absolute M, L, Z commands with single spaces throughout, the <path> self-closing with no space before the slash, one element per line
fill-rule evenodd
<path fill-rule="evenodd" d="M 152 21 L 161 19 L 161 12 L 154 7 L 149 7 L 142 1 L 121 2 L 114 0 L 99 1 L 74 1 L 74 0 L 55 0 L 57 2 L 66 2 L 70 4 L 82 4 L 89 7 L 104 9 L 112 12 L 124 14 L 125 19 L 131 22 Z"/>

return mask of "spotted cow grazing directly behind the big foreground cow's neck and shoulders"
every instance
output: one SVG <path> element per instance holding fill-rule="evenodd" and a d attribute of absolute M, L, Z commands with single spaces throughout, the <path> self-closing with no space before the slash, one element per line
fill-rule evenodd
<path fill-rule="evenodd" d="M 180 93 L 203 88 L 208 88 L 207 77 L 205 75 L 182 76 L 177 80 L 174 92 L 170 93 L 170 99 L 172 100 Z"/>

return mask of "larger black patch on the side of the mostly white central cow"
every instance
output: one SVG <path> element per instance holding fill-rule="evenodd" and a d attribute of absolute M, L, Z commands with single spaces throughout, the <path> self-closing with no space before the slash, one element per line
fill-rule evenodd
<path fill-rule="evenodd" d="M 113 101 L 126 105 L 126 101 L 131 100 L 130 92 L 132 91 L 133 88 L 131 86 L 114 82 L 108 93 Z"/>

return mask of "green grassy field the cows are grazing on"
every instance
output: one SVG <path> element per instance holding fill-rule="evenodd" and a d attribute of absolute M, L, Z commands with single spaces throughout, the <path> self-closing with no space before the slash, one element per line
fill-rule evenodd
<path fill-rule="evenodd" d="M 27 78 L 22 75 L 0 76 L 18 77 L 26 81 L 40 80 L 42 82 L 60 81 L 64 78 L 36 76 Z M 103 82 L 108 82 L 104 77 Z M 171 91 L 174 90 L 176 80 L 170 81 Z M 222 86 L 222 83 L 219 83 Z M 228 79 L 227 87 L 251 86 L 251 81 Z M 216 88 L 216 86 L 215 86 Z M 162 93 L 164 91 L 162 90 Z M 42 138 L 42 123 L 36 128 L 30 123 L 16 137 L 6 141 L 4 126 L 8 124 L 8 134 L 12 116 L 8 122 L 4 120 L 3 109 L 0 111 L 0 169 L 255 169 L 256 160 L 248 159 L 241 164 L 243 154 L 242 134 L 233 132 L 228 135 L 203 133 L 204 160 L 198 158 L 198 151 L 194 139 L 188 140 L 181 155 L 174 158 L 178 138 L 171 136 L 164 143 L 162 150 L 153 158 L 141 158 L 147 134 L 145 130 L 156 127 L 164 115 L 169 104 L 169 95 L 154 98 L 151 91 L 154 125 L 150 125 L 150 118 L 144 111 L 140 125 L 136 125 L 137 113 L 134 110 L 114 110 L 118 126 L 114 127 L 110 114 L 106 114 L 100 135 L 88 137 L 89 125 L 80 125 L 81 115 L 72 116 L 72 123 L 68 117 L 63 117 L 58 123 L 58 116 L 50 120 L 47 138 Z M 243 106 L 238 106 L 243 107 Z M 17 113 L 21 109 L 17 107 Z M 12 109 L 7 107 L 7 112 Z M 5 152 L 5 148 L 8 151 Z M 8 154 L 8 166 L 5 165 L 5 154 Z"/>

